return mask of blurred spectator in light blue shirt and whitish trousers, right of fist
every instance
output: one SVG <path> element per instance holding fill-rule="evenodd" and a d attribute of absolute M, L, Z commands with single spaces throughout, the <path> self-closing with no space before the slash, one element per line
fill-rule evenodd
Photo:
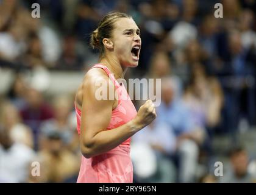
<path fill-rule="evenodd" d="M 162 103 L 157 107 L 157 120 L 166 122 L 176 135 L 176 152 L 180 161 L 179 181 L 194 182 L 199 144 L 204 140 L 204 132 L 191 120 L 191 113 L 185 104 L 174 99 L 175 93 L 172 82 L 163 79 Z"/>

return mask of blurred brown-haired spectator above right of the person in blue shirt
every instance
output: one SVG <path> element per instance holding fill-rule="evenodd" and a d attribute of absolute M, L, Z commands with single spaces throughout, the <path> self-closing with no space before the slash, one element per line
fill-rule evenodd
<path fill-rule="evenodd" d="M 200 64 L 194 66 L 184 100 L 194 113 L 193 117 L 198 126 L 218 126 L 223 105 L 222 88 L 218 80 L 213 76 L 208 76 Z"/>

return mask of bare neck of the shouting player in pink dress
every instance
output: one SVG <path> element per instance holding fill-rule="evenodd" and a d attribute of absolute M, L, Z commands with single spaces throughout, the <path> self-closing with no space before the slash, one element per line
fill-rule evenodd
<path fill-rule="evenodd" d="M 108 57 L 104 57 L 100 60 L 102 65 L 107 66 L 107 68 L 114 74 L 115 79 L 123 79 L 124 74 L 126 74 L 127 67 L 122 66 L 118 60 L 116 59 L 109 59 Z"/>

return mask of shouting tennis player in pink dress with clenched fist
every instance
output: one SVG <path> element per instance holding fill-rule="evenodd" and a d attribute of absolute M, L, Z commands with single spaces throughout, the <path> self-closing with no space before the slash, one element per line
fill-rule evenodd
<path fill-rule="evenodd" d="M 75 99 L 82 152 L 77 182 L 131 183 L 130 137 L 157 116 L 151 100 L 137 113 L 130 98 L 122 98 L 127 90 L 117 80 L 138 66 L 140 29 L 126 13 L 109 13 L 91 34 L 91 46 L 99 49 L 99 63 L 87 71 Z M 99 99 L 96 81 L 113 88 L 114 98 Z"/>

